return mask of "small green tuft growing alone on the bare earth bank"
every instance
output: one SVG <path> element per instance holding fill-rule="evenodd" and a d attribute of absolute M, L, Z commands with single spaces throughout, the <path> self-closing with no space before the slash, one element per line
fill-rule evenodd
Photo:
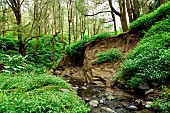
<path fill-rule="evenodd" d="M 119 49 L 113 48 L 111 50 L 108 50 L 106 52 L 101 52 L 96 55 L 97 63 L 101 64 L 104 62 L 111 62 L 111 61 L 118 61 L 122 59 L 122 54 Z"/>

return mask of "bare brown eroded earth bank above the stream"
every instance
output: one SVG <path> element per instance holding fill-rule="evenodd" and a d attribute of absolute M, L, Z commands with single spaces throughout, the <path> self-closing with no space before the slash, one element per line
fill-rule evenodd
<path fill-rule="evenodd" d="M 70 57 L 64 56 L 60 61 L 57 68 L 54 70 L 55 75 L 61 75 L 69 77 L 70 79 L 78 79 L 82 82 L 87 82 L 85 75 L 82 74 L 83 67 L 86 66 L 86 62 L 90 64 L 86 67 L 90 67 L 93 74 L 93 84 L 99 86 L 111 86 L 112 76 L 115 74 L 121 62 L 124 60 L 126 53 L 135 47 L 139 42 L 141 34 L 128 31 L 118 36 L 107 37 L 103 39 L 96 39 L 85 45 L 83 51 L 84 58 L 81 59 L 83 65 L 71 65 Z M 123 59 L 120 62 L 106 62 L 103 64 L 97 64 L 96 54 L 110 50 L 112 48 L 118 48 L 121 50 Z M 88 69 L 86 71 L 89 71 Z M 90 73 L 90 72 L 89 72 Z"/>

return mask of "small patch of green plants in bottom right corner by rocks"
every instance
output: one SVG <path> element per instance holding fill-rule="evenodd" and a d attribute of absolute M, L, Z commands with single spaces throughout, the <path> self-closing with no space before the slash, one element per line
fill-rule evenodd
<path fill-rule="evenodd" d="M 158 97 L 154 100 L 154 107 L 159 108 L 162 113 L 170 112 L 170 89 L 165 88 L 161 97 Z"/>

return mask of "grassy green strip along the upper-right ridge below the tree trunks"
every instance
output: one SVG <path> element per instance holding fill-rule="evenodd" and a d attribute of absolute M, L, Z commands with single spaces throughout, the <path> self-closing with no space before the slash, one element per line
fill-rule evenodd
<path fill-rule="evenodd" d="M 155 22 L 167 18 L 170 15 L 170 2 L 161 5 L 157 10 L 145 14 L 131 23 L 130 29 L 148 30 Z"/>

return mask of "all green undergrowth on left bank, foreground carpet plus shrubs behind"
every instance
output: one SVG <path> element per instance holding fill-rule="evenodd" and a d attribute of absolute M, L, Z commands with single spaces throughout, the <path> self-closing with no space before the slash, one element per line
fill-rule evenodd
<path fill-rule="evenodd" d="M 52 62 L 50 36 L 41 37 L 39 42 L 30 41 L 25 57 L 17 53 L 17 41 L 13 37 L 1 37 L 0 43 L 0 112 L 87 113 L 90 110 L 70 84 L 47 72 Z M 55 46 L 57 59 L 62 56 L 60 45 L 58 42 Z"/>

